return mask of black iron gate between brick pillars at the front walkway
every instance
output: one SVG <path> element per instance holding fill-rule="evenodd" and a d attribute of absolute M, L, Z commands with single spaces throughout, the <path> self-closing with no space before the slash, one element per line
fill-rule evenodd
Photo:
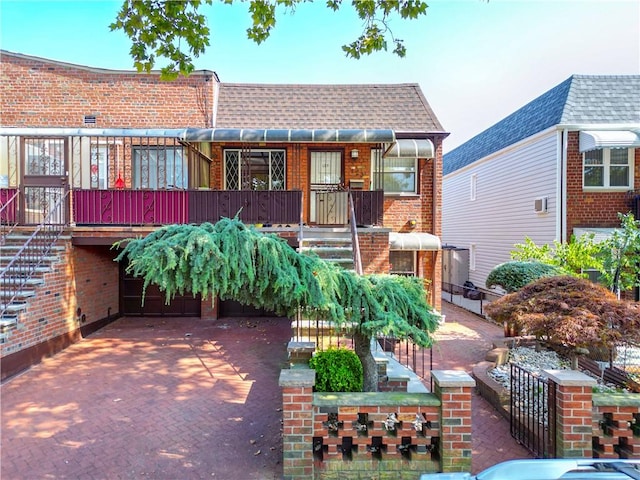
<path fill-rule="evenodd" d="M 556 457 L 556 384 L 511 364 L 511 436 L 536 458 Z"/>

